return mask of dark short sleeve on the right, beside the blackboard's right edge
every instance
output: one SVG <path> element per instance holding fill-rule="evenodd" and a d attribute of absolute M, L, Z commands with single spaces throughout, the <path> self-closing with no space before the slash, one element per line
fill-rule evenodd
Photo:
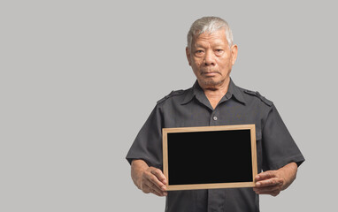
<path fill-rule="evenodd" d="M 262 129 L 262 145 L 263 170 L 278 170 L 292 162 L 299 166 L 304 162 L 301 151 L 274 105 Z"/>

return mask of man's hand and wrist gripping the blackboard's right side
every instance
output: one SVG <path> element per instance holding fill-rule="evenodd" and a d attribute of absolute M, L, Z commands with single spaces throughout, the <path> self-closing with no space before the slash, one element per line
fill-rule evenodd
<path fill-rule="evenodd" d="M 257 194 L 270 194 L 277 196 L 296 179 L 296 163 L 288 163 L 279 170 L 267 170 L 258 174 L 255 178 L 256 185 L 253 190 Z"/>

